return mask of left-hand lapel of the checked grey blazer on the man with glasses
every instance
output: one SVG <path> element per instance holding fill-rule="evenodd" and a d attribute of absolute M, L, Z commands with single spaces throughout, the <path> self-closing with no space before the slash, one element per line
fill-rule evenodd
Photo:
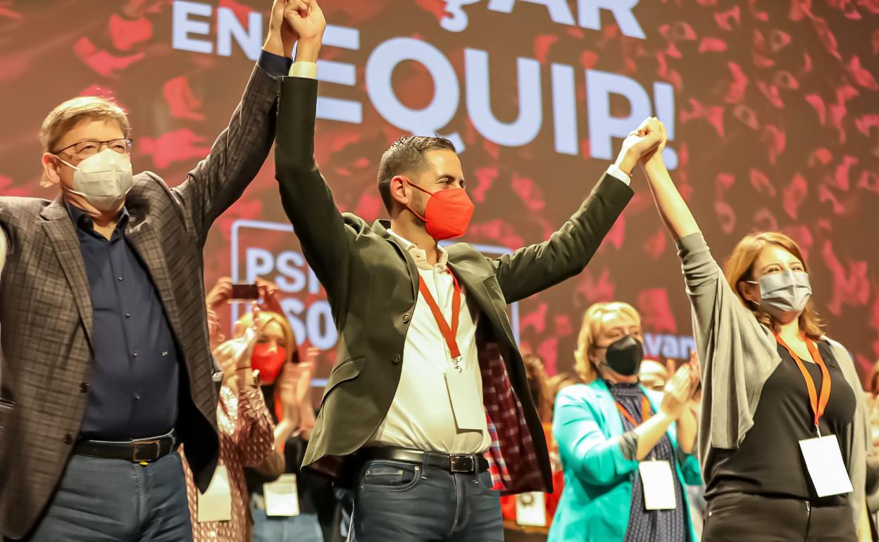
<path fill-rule="evenodd" d="M 94 348 L 91 342 L 93 310 L 89 294 L 89 278 L 85 274 L 83 253 L 79 247 L 79 239 L 76 238 L 73 220 L 70 220 L 60 196 L 44 208 L 40 216 L 46 220 L 42 223 L 42 227 L 52 243 L 55 256 L 58 257 L 58 263 L 61 264 L 64 277 L 67 278 L 70 286 L 70 292 L 73 293 L 76 310 L 79 311 L 79 317 L 85 327 L 86 339 Z"/>

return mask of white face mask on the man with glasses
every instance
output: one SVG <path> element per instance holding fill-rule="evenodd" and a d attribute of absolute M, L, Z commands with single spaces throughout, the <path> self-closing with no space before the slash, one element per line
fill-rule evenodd
<path fill-rule="evenodd" d="M 82 196 L 98 211 L 113 211 L 125 201 L 126 194 L 131 190 L 133 174 L 127 155 L 105 148 L 78 166 L 61 157 L 58 159 L 74 170 L 73 189 L 66 190 Z"/>

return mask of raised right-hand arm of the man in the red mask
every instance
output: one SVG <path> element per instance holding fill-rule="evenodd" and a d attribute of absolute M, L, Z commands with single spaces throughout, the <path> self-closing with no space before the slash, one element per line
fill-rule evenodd
<path fill-rule="evenodd" d="M 628 186 L 631 171 L 658 142 L 658 133 L 629 137 L 623 142 L 616 163 L 608 168 L 577 213 L 548 241 L 492 260 L 498 285 L 508 303 L 546 290 L 583 271 L 632 199 L 634 192 Z"/>

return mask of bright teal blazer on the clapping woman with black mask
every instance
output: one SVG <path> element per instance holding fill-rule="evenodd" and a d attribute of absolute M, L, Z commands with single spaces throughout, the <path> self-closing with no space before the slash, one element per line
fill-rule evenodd
<path fill-rule="evenodd" d="M 644 393 L 657 411 L 661 395 L 647 389 Z M 626 536 L 638 461 L 622 457 L 618 437 L 623 432 L 620 412 L 604 380 L 566 387 L 558 394 L 553 434 L 562 459 L 564 489 L 548 542 L 615 542 Z M 674 470 L 681 485 L 701 484 L 699 462 L 680 452 L 674 424 L 667 434 L 678 452 Z M 691 540 L 696 540 L 686 491 L 683 504 Z"/>

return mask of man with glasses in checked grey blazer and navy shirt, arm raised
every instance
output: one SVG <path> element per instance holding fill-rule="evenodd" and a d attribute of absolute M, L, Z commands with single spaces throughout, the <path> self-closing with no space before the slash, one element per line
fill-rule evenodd
<path fill-rule="evenodd" d="M 41 131 L 61 194 L 0 198 L 0 537 L 192 539 L 178 444 L 201 490 L 219 452 L 202 249 L 272 146 L 302 4 L 275 1 L 229 127 L 182 184 L 133 176 L 125 112 L 82 97 Z"/>

